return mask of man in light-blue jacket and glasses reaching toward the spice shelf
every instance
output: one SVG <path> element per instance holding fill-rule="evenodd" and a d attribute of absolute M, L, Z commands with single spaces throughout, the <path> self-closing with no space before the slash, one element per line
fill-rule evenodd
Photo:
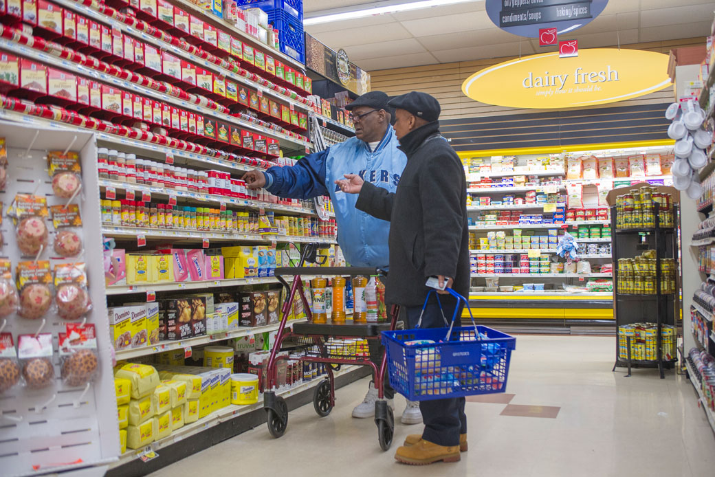
<path fill-rule="evenodd" d="M 271 167 L 266 172 L 250 171 L 244 175 L 246 185 L 251 189 L 265 187 L 278 197 L 310 199 L 329 195 L 335 209 L 337 243 L 345 260 L 355 267 L 388 267 L 390 222 L 356 209 L 358 196 L 345 194 L 335 181 L 345 177 L 345 174 L 358 174 L 365 182 L 388 192 L 397 190 L 407 157 L 398 149 L 395 130 L 390 126 L 388 100 L 387 94 L 372 91 L 345 107 L 352 112 L 355 137 L 309 154 L 295 166 Z M 374 359 L 379 366 L 378 357 Z M 385 397 L 390 402 L 393 395 L 390 386 L 385 386 Z M 377 397 L 375 385 L 370 383 L 365 400 L 352 410 L 352 417 L 373 417 Z M 422 422 L 419 403 L 408 401 L 402 422 Z"/>

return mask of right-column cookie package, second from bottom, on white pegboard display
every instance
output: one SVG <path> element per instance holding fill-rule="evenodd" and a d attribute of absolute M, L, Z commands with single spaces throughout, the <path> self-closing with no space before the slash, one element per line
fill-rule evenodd
<path fill-rule="evenodd" d="M 79 320 L 92 309 L 84 263 L 65 263 L 54 268 L 55 305 L 63 320 Z"/>

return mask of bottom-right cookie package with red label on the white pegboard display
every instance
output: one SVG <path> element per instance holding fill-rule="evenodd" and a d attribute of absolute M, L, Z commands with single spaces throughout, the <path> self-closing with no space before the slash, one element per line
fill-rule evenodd
<path fill-rule="evenodd" d="M 66 333 L 59 333 L 59 360 L 63 383 L 68 386 L 89 383 L 99 368 L 94 325 L 66 325 Z"/>

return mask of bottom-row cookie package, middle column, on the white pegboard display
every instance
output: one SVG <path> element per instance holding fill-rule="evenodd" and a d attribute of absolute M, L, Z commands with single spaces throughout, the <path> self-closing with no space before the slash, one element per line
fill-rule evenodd
<path fill-rule="evenodd" d="M 20 335 L 17 338 L 17 355 L 22 366 L 22 377 L 28 388 L 42 389 L 52 385 L 52 353 L 52 333 Z"/>

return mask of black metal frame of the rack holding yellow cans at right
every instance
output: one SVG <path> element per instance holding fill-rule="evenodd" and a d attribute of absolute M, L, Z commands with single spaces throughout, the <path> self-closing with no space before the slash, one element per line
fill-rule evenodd
<path fill-rule="evenodd" d="M 632 368 L 658 368 L 661 379 L 665 378 L 665 370 L 673 369 L 677 361 L 675 354 L 671 359 L 663 356 L 663 325 L 676 327 L 679 317 L 679 275 L 676 274 L 676 287 L 674 293 L 663 293 L 661 288 L 661 259 L 672 258 L 678 261 L 678 231 L 679 207 L 673 206 L 674 227 L 661 227 L 659 210 L 656 207 L 655 223 L 652 228 L 618 229 L 616 227 L 616 207 L 611 207 L 611 254 L 613 255 L 613 315 L 616 318 L 616 368 L 628 368 L 631 375 Z M 644 250 L 656 251 L 656 292 L 654 294 L 625 294 L 618 292 L 618 260 L 633 258 Z M 635 360 L 631 358 L 631 337 L 627 337 L 627 358 L 621 358 L 618 353 L 618 329 L 622 325 L 634 323 L 653 323 L 658 325 L 656 336 L 656 360 Z M 675 337 L 674 337 L 675 339 Z"/>

